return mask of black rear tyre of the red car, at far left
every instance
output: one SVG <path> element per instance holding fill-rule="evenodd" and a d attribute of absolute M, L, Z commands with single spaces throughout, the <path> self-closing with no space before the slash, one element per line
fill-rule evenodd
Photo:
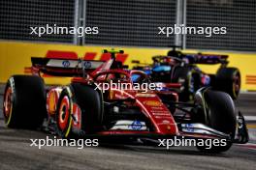
<path fill-rule="evenodd" d="M 39 128 L 47 116 L 44 80 L 14 75 L 6 83 L 3 113 L 9 128 Z"/>

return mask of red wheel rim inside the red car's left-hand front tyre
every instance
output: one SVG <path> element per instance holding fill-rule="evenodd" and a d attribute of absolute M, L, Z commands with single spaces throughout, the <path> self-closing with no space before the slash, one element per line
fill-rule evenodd
<path fill-rule="evenodd" d="M 61 104 L 58 111 L 58 122 L 59 128 L 61 130 L 65 130 L 69 124 L 69 116 L 70 116 L 70 102 L 68 97 L 64 97 L 61 100 Z"/>

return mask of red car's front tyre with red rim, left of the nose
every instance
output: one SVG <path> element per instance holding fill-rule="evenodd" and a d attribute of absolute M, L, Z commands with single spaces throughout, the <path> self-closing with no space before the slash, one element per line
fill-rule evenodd
<path fill-rule="evenodd" d="M 72 115 L 72 107 L 75 103 L 80 107 L 80 120 L 74 120 Z M 92 86 L 72 83 L 61 92 L 56 110 L 57 128 L 62 137 L 80 137 L 103 128 L 102 94 Z M 74 121 L 80 121 L 80 131 L 72 129 Z"/>

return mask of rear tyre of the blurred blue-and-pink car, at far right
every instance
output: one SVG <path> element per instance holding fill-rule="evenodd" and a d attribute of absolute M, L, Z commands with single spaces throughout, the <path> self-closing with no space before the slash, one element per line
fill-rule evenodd
<path fill-rule="evenodd" d="M 215 77 L 214 89 L 228 93 L 232 99 L 240 94 L 240 70 L 237 68 L 221 68 Z"/>

